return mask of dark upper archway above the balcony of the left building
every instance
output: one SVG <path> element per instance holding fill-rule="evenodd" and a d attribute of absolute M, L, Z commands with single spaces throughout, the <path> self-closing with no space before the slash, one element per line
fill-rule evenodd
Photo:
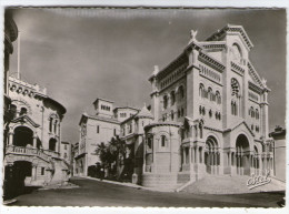
<path fill-rule="evenodd" d="M 13 145 L 27 146 L 33 145 L 33 131 L 27 126 L 19 126 L 14 129 Z"/>

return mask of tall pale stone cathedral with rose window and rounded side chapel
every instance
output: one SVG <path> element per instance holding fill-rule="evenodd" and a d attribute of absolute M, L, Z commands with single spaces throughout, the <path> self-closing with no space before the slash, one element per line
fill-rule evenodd
<path fill-rule="evenodd" d="M 273 175 L 268 92 L 249 60 L 241 26 L 191 39 L 149 81 L 153 123 L 144 126 L 142 185 L 173 186 L 210 174 Z"/>

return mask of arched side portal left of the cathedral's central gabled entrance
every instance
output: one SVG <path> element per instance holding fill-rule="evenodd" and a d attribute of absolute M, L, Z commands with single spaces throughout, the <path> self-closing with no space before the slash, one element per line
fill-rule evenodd
<path fill-rule="evenodd" d="M 220 153 L 218 151 L 218 141 L 213 136 L 209 136 L 206 141 L 205 165 L 208 174 L 218 174 Z"/>

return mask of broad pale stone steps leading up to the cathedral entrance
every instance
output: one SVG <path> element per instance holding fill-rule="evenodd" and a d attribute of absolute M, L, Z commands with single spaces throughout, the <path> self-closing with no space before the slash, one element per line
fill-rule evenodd
<path fill-rule="evenodd" d="M 249 176 L 208 175 L 182 190 L 193 194 L 241 194 L 256 192 L 285 191 L 286 184 L 272 177 L 265 185 L 249 190 Z"/>

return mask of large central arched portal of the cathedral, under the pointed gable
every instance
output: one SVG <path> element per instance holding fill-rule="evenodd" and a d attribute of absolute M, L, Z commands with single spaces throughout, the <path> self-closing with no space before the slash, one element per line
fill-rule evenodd
<path fill-rule="evenodd" d="M 250 144 L 245 134 L 236 140 L 236 166 L 237 174 L 250 175 Z"/>

